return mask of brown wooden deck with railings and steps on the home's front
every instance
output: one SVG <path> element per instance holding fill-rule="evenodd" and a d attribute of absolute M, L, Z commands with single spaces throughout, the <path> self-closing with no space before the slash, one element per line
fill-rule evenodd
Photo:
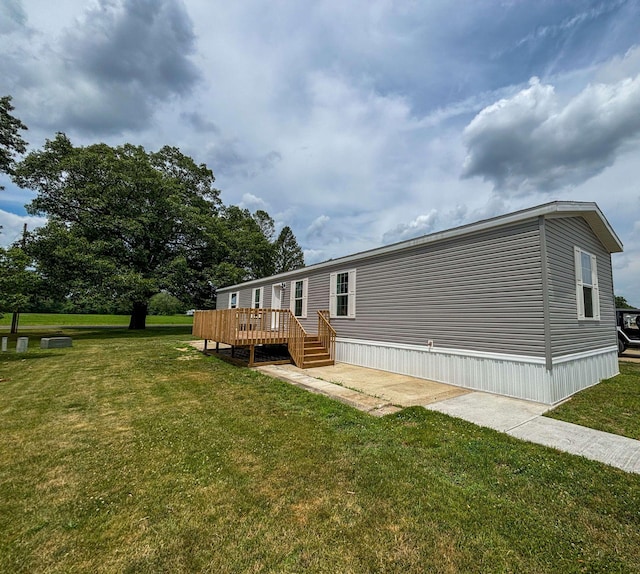
<path fill-rule="evenodd" d="M 293 362 L 301 368 L 325 366 L 335 360 L 336 333 L 328 311 L 318 311 L 318 333 L 308 334 L 288 309 L 222 309 L 196 311 L 193 335 L 235 347 L 249 348 L 249 365 L 260 345 L 286 345 Z M 268 363 L 260 363 L 268 364 Z"/>

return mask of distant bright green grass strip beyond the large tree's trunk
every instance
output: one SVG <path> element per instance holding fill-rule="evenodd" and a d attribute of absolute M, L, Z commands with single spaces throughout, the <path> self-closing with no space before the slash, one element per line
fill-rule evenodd
<path fill-rule="evenodd" d="M 37 326 L 101 326 L 101 325 L 129 325 L 129 315 L 94 315 L 73 313 L 20 313 L 19 328 Z M 148 315 L 147 325 L 191 325 L 193 317 L 187 315 Z M 11 313 L 5 313 L 0 318 L 2 327 L 11 327 Z"/>

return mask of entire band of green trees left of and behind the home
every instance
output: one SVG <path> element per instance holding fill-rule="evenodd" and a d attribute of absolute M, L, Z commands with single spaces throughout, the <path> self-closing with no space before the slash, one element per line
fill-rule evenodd
<path fill-rule="evenodd" d="M 220 287 L 304 267 L 289 227 L 276 236 L 266 211 L 223 205 L 213 172 L 178 148 L 58 133 L 17 162 L 26 126 L 12 111 L 1 98 L 0 170 L 47 223 L 0 251 L 0 311 L 123 313 L 142 329 L 170 301 L 211 308 Z"/>

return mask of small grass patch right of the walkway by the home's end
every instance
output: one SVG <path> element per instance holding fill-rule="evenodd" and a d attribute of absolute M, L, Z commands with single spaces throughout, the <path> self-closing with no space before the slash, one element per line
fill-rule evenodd
<path fill-rule="evenodd" d="M 545 416 L 640 440 L 640 364 L 581 391 Z"/>

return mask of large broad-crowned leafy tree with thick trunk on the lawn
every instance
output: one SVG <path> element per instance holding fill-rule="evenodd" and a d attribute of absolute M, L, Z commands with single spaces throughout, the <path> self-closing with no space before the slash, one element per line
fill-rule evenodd
<path fill-rule="evenodd" d="M 27 249 L 68 297 L 126 304 L 129 328 L 144 329 L 156 293 L 212 296 L 210 269 L 189 264 L 210 250 L 220 206 L 206 165 L 173 147 L 76 147 L 58 134 L 14 181 L 37 192 L 29 213 L 48 217 Z"/>

